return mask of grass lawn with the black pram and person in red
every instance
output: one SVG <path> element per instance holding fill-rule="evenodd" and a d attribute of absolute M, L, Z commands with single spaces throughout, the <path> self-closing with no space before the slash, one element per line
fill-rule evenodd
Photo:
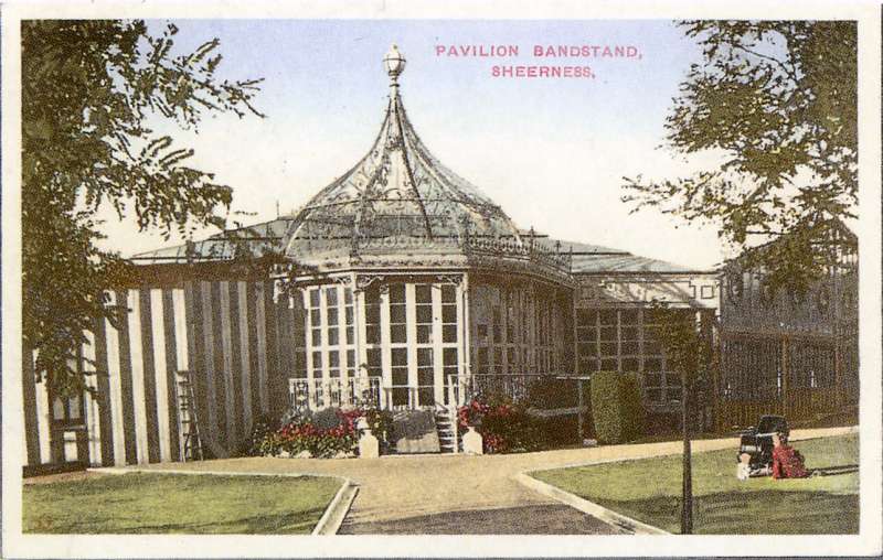
<path fill-rule="evenodd" d="M 859 438 L 794 442 L 808 469 L 854 466 Z M 859 532 L 859 473 L 738 481 L 736 450 L 693 454 L 696 534 Z M 634 519 L 680 532 L 681 455 L 532 473 L 535 478 Z"/>

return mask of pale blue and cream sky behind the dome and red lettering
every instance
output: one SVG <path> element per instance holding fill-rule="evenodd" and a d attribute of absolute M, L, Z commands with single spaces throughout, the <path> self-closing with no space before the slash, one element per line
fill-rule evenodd
<path fill-rule="evenodd" d="M 304 204 L 371 146 L 396 43 L 408 116 L 429 150 L 523 227 L 708 268 L 715 230 L 656 213 L 629 215 L 621 176 L 671 177 L 694 169 L 663 142 L 663 122 L 696 46 L 669 21 L 174 20 L 177 47 L 219 37 L 222 76 L 263 77 L 266 119 L 223 115 L 199 134 L 192 163 L 234 187 L 234 208 L 275 217 Z M 159 30 L 162 21 L 152 21 Z M 518 45 L 518 58 L 455 58 L 436 45 Z M 634 45 L 641 60 L 535 58 L 533 45 Z M 493 64 L 589 65 L 596 77 L 493 78 Z M 700 162 L 701 163 L 701 162 Z M 110 220 L 113 222 L 113 220 Z M 124 254 L 166 245 L 108 224 Z"/>

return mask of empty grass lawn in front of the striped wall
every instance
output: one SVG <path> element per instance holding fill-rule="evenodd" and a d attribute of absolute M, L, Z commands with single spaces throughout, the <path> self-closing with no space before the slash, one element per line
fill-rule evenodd
<path fill-rule="evenodd" d="M 104 475 L 28 484 L 24 532 L 309 534 L 341 482 L 320 477 Z"/>

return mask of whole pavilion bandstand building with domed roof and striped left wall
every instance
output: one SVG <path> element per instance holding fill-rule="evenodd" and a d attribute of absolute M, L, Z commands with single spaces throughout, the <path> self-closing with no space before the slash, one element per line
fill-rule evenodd
<path fill-rule="evenodd" d="M 517 396 L 532 376 L 639 371 L 649 409 L 677 407 L 646 310 L 710 324 L 716 272 L 518 227 L 433 157 L 402 103 L 404 58 L 384 63 L 371 149 L 298 212 L 132 259 L 139 282 L 111 294 L 128 321 L 99 321 L 83 348 L 108 374 L 94 394 L 54 399 L 25 359 L 29 465 L 183 460 L 194 423 L 228 456 L 264 414 L 366 396 L 450 409 L 476 379 Z"/>

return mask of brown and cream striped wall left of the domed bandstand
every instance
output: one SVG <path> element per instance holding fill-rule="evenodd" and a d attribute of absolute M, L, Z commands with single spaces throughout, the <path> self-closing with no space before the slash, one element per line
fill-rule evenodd
<path fill-rule="evenodd" d="M 196 281 L 109 295 L 110 304 L 128 308 L 126 320 L 116 326 L 96 321 L 82 348 L 92 389 L 83 422 L 93 465 L 182 459 L 179 371 L 192 371 L 210 455 L 238 453 L 255 419 L 287 406 L 278 348 L 290 346 L 289 325 L 278 324 L 272 282 Z M 25 464 L 70 461 L 64 434 L 52 428 L 46 390 L 35 383 L 32 355 L 25 352 L 31 357 L 22 367 Z M 61 455 L 53 457 L 58 445 Z"/>

